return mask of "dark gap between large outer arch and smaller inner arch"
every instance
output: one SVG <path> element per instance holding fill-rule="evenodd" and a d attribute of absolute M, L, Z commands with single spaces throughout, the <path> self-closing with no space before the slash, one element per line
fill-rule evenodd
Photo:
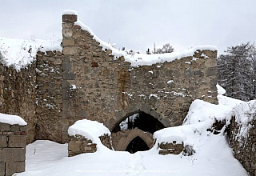
<path fill-rule="evenodd" d="M 136 127 L 140 130 L 150 132 L 151 134 L 154 134 L 157 130 L 165 128 L 162 122 L 159 122 L 157 118 L 141 111 L 130 115 L 124 121 L 115 126 L 112 132 L 116 133 L 120 130 L 134 129 Z"/>

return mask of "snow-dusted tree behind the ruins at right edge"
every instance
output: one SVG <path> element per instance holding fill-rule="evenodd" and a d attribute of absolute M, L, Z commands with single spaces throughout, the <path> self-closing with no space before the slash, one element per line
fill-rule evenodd
<path fill-rule="evenodd" d="M 225 52 L 218 57 L 219 85 L 226 89 L 227 96 L 244 101 L 256 98 L 254 44 L 230 46 Z"/>

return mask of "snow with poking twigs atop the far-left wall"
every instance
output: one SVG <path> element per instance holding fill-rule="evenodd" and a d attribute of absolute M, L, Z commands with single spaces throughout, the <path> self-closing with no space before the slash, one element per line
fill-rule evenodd
<path fill-rule="evenodd" d="M 16 70 L 21 70 L 34 61 L 38 50 L 62 51 L 61 42 L 61 40 L 0 38 L 0 62 L 5 66 L 14 66 Z"/>

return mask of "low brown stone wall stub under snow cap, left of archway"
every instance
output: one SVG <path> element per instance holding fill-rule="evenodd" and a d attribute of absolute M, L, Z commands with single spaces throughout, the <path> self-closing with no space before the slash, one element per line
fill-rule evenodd
<path fill-rule="evenodd" d="M 81 135 L 69 136 L 68 152 L 69 157 L 77 154 L 94 153 L 97 151 L 97 144 Z"/>

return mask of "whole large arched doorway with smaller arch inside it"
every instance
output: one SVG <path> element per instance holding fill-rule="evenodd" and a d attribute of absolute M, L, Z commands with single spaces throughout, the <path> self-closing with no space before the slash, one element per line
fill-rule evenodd
<path fill-rule="evenodd" d="M 154 132 L 165 127 L 158 118 L 136 111 L 114 126 L 112 144 L 115 150 L 129 151 L 132 154 L 149 150 L 154 146 Z"/>

